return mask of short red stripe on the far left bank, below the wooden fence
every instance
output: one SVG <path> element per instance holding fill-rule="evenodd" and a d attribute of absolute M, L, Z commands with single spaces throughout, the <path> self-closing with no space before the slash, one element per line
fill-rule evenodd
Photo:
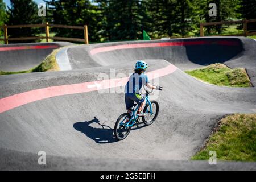
<path fill-rule="evenodd" d="M 38 46 L 14 46 L 14 47 L 0 47 L 0 51 L 18 51 L 28 49 L 52 49 L 59 48 L 58 45 L 38 45 Z"/>

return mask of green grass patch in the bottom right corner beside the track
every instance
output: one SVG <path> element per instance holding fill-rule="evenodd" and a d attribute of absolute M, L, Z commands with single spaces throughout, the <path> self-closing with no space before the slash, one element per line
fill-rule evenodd
<path fill-rule="evenodd" d="M 256 114 L 234 114 L 221 119 L 205 148 L 192 160 L 208 160 L 216 151 L 218 160 L 256 161 Z"/>

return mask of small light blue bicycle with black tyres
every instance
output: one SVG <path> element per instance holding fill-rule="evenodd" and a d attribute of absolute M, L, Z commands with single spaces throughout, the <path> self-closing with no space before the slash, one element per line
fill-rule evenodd
<path fill-rule="evenodd" d="M 155 100 L 150 101 L 149 99 L 148 95 L 152 93 L 152 91 L 146 91 L 145 96 L 146 105 L 143 109 L 143 113 L 145 113 L 146 115 L 142 117 L 142 121 L 146 126 L 151 125 L 155 121 L 156 117 L 158 117 L 159 112 L 158 102 L 156 102 Z M 115 122 L 114 133 L 115 137 L 118 140 L 125 139 L 129 135 L 131 127 L 139 123 L 139 116 L 137 115 L 137 111 L 140 105 L 137 105 L 138 104 L 134 104 L 133 106 L 131 106 L 129 108 L 131 113 L 121 114 Z M 137 107 L 134 108 L 135 106 Z M 147 117 L 149 117 L 149 119 Z"/>

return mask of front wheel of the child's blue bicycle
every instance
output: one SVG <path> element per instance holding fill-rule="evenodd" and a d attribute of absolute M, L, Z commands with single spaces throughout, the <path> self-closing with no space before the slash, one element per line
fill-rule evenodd
<path fill-rule="evenodd" d="M 150 101 L 151 102 L 151 105 L 152 105 L 152 114 L 150 112 L 150 105 L 147 104 L 145 107 L 144 107 L 144 110 L 143 110 L 143 113 L 145 113 L 145 116 L 142 117 L 142 121 L 145 125 L 151 125 L 156 117 L 158 117 L 158 112 L 159 112 L 159 104 L 158 102 L 152 100 Z"/>

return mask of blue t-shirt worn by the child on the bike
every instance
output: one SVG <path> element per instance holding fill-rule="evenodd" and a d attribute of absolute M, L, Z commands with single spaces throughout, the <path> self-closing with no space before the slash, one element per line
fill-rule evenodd
<path fill-rule="evenodd" d="M 133 75 L 130 76 L 129 81 L 125 85 L 125 93 L 140 93 L 140 90 L 143 85 L 146 85 L 148 83 L 147 75 L 144 73 L 141 73 L 139 75 L 138 73 L 133 73 Z"/>

